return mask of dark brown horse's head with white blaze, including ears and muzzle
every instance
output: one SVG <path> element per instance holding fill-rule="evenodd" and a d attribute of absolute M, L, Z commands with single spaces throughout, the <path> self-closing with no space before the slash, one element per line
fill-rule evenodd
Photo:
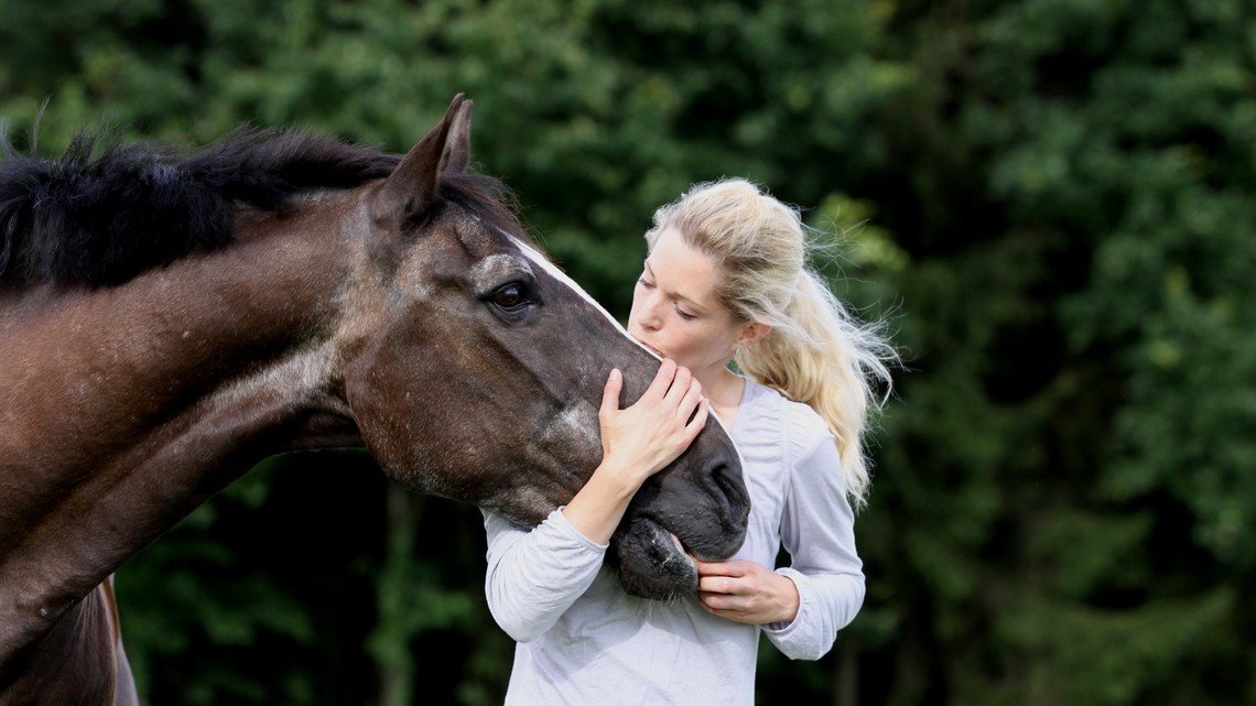
<path fill-rule="evenodd" d="M 344 398 L 381 467 L 404 487 L 535 525 L 602 460 L 607 374 L 636 401 L 659 361 L 526 240 L 467 173 L 471 102 L 441 121 L 362 202 L 358 332 Z M 350 294 L 352 295 L 352 294 Z M 624 588 L 692 593 L 701 559 L 732 555 L 750 500 L 717 422 L 654 475 L 615 538 Z"/>

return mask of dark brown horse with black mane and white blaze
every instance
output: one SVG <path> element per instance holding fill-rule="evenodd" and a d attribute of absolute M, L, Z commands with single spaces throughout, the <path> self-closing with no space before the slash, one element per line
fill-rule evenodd
<path fill-rule="evenodd" d="M 0 703 L 136 703 L 113 573 L 259 461 L 365 448 L 404 489 L 535 525 L 659 359 L 468 170 L 471 100 L 406 155 L 244 127 L 0 163 Z M 627 590 L 696 590 L 745 534 L 707 423 L 613 539 Z M 677 570 L 677 565 L 688 570 Z"/>

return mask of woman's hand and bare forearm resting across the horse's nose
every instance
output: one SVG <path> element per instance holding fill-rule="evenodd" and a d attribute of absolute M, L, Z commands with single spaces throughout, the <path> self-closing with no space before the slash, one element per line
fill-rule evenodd
<path fill-rule="evenodd" d="M 623 376 L 610 371 L 598 412 L 602 464 L 563 508 L 571 526 L 598 544 L 610 541 L 641 484 L 685 452 L 708 413 L 702 386 L 674 361 L 663 361 L 641 399 L 625 410 L 619 408 L 622 389 Z"/>

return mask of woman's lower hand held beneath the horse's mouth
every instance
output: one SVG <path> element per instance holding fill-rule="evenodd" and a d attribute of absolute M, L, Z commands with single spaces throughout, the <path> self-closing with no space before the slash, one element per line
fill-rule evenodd
<path fill-rule="evenodd" d="M 755 562 L 697 562 L 698 603 L 739 623 L 790 623 L 798 617 L 798 587 Z"/>

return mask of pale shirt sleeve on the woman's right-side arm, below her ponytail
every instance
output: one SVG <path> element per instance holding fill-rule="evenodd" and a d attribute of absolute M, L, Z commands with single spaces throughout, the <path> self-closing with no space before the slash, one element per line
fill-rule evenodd
<path fill-rule="evenodd" d="M 794 580 L 799 608 L 793 622 L 764 626 L 764 633 L 791 660 L 819 660 L 863 606 L 863 562 L 833 437 L 820 435 L 789 476 L 781 544 L 791 563 L 776 573 Z"/>

